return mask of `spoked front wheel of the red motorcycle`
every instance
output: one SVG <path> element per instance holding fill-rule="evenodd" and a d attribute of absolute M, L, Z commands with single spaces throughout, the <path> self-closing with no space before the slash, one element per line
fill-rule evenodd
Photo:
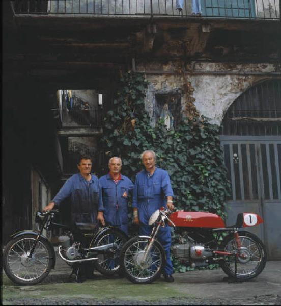
<path fill-rule="evenodd" d="M 149 238 L 133 237 L 123 246 L 120 253 L 121 271 L 135 284 L 150 284 L 160 277 L 166 263 L 162 245 L 155 240 L 146 262 L 142 262 Z"/>

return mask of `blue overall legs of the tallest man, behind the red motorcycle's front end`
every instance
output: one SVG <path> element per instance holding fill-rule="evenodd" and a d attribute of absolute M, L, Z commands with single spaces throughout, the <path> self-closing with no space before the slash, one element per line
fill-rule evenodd
<path fill-rule="evenodd" d="M 152 226 L 140 224 L 139 235 L 149 236 L 151 234 Z M 170 275 L 173 274 L 173 266 L 170 258 L 170 248 L 171 248 L 171 228 L 166 225 L 164 228 L 160 227 L 156 236 L 157 240 L 163 246 L 166 253 L 166 265 L 164 267 L 164 274 Z"/>

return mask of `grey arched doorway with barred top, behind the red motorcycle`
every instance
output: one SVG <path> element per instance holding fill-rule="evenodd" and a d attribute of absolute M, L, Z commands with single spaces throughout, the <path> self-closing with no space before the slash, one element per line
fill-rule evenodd
<path fill-rule="evenodd" d="M 264 241 L 269 259 L 281 259 L 281 80 L 241 94 L 224 115 L 220 139 L 232 186 L 227 224 L 240 212 L 260 214 L 263 225 L 250 231 Z"/>

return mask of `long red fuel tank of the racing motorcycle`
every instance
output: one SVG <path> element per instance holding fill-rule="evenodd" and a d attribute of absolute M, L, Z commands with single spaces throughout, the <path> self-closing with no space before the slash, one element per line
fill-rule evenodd
<path fill-rule="evenodd" d="M 225 228 L 223 220 L 216 214 L 202 212 L 174 212 L 169 219 L 178 227 Z"/>

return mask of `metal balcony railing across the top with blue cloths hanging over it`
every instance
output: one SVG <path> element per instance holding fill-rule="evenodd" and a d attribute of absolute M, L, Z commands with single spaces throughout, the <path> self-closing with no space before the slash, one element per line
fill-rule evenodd
<path fill-rule="evenodd" d="M 12 0 L 16 14 L 276 19 L 279 0 Z"/>

